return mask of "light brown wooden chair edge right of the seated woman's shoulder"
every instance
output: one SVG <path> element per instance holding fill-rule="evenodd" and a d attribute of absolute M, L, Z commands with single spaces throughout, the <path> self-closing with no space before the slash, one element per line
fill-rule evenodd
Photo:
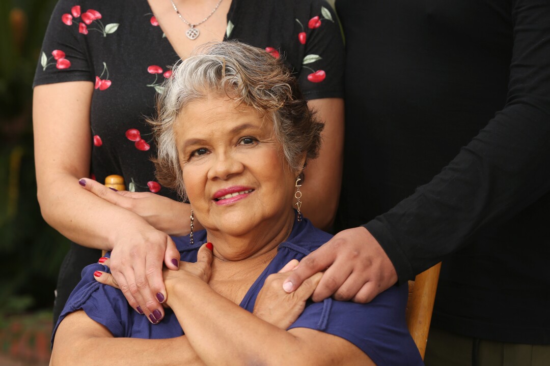
<path fill-rule="evenodd" d="M 426 352 L 440 269 L 441 262 L 417 275 L 414 281 L 409 281 L 409 300 L 406 309 L 407 326 L 422 359 Z"/>

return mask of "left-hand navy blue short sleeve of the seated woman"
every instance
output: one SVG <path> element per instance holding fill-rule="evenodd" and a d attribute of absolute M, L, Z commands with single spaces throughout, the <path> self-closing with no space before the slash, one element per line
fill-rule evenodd
<path fill-rule="evenodd" d="M 94 279 L 95 271 L 106 271 L 102 264 L 90 264 L 83 269 L 82 280 L 69 296 L 61 316 L 52 334 L 52 345 L 57 327 L 70 313 L 83 309 L 90 319 L 104 325 L 114 337 L 126 337 L 130 334 L 130 310 L 121 291 L 111 286 L 98 283 Z"/>

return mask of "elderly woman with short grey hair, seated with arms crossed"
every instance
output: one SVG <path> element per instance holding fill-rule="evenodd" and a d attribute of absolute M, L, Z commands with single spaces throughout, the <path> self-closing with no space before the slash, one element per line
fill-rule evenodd
<path fill-rule="evenodd" d="M 296 260 L 330 235 L 301 217 L 301 201 L 315 199 L 300 183 L 322 124 L 281 60 L 209 46 L 174 70 L 152 123 L 159 179 L 206 230 L 175 238 L 182 262 L 164 271 L 169 309 L 156 325 L 109 286 L 108 259 L 87 267 L 54 331 L 53 365 L 422 363 L 406 287 L 367 305 L 307 301 L 321 274 L 282 290 Z"/>

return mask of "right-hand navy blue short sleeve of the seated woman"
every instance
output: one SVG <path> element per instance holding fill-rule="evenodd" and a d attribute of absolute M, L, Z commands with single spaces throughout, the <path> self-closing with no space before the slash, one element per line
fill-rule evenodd
<path fill-rule="evenodd" d="M 332 299 L 311 302 L 289 329 L 309 328 L 339 336 L 377 365 L 422 365 L 405 324 L 407 294 L 405 285 L 394 286 L 367 304 Z"/>

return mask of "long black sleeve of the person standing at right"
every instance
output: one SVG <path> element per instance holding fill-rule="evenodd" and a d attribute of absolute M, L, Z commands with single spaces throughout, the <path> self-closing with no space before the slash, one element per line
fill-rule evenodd
<path fill-rule="evenodd" d="M 432 181 L 364 225 L 399 281 L 550 190 L 550 2 L 513 2 L 507 103 Z"/>

